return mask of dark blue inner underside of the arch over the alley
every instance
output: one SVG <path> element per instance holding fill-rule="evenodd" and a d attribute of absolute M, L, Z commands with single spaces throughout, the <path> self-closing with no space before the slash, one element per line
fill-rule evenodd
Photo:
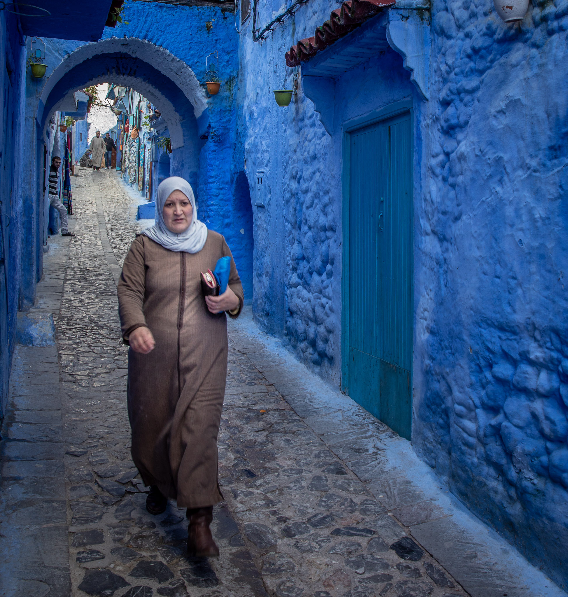
<path fill-rule="evenodd" d="M 45 102 L 41 130 L 44 130 L 46 120 L 56 110 L 57 103 L 69 93 L 99 82 L 120 83 L 125 79 L 134 88 L 136 85 L 133 81 L 136 80 L 143 83 L 141 87 L 150 85 L 174 107 L 176 121 L 183 133 L 183 146 L 173 150 L 170 174 L 188 180 L 197 198 L 199 152 L 205 140 L 199 137 L 194 107 L 171 79 L 143 60 L 121 53 L 97 54 L 67 71 L 54 85 Z M 165 106 L 156 104 L 156 107 L 166 111 Z"/>

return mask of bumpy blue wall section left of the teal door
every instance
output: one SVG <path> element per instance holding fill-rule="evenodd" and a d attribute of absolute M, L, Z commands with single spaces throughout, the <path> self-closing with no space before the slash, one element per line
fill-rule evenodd
<path fill-rule="evenodd" d="M 275 1 L 259 5 L 259 26 L 279 9 Z M 254 318 L 283 337 L 300 360 L 339 384 L 340 149 L 301 88 L 288 107 L 277 106 L 272 93 L 293 85 L 285 51 L 296 38 L 312 35 L 330 10 L 328 3 L 311 2 L 299 9 L 296 27 L 288 20 L 257 43 L 251 19 L 245 23 L 238 128 L 253 203 Z M 265 171 L 265 207 L 254 205 L 257 170 Z"/>

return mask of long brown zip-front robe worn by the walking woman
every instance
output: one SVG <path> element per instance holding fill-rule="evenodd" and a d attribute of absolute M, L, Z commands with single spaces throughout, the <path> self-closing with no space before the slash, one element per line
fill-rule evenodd
<path fill-rule="evenodd" d="M 118 282 L 122 337 L 150 329 L 148 355 L 128 352 L 128 417 L 132 458 L 146 485 L 158 485 L 180 507 L 212 506 L 217 484 L 217 435 L 227 375 L 227 319 L 210 313 L 200 272 L 231 257 L 229 287 L 243 304 L 241 279 L 225 238 L 208 230 L 199 253 L 165 249 L 139 235 Z"/>

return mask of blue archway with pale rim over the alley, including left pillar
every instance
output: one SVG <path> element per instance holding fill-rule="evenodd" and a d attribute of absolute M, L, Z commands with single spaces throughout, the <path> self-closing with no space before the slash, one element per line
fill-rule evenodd
<path fill-rule="evenodd" d="M 20 284 L 20 301 L 24 305 L 35 301 L 42 243 L 47 235 L 48 201 L 42 175 L 44 146 L 50 146 L 47 129 L 51 116 L 57 111 L 74 111 L 75 91 L 109 81 L 136 89 L 158 107 L 170 131 L 170 174 L 183 177 L 196 191 L 199 189 L 199 156 L 210 124 L 207 98 L 188 64 L 139 38 L 103 39 L 67 54 L 47 81 L 42 81 L 44 87 L 39 97 L 30 97 L 35 122 L 30 127 L 33 133 L 26 159 L 30 177 L 23 189 L 24 205 L 30 214 L 24 230 L 30 241 L 23 256 L 28 267 Z"/>

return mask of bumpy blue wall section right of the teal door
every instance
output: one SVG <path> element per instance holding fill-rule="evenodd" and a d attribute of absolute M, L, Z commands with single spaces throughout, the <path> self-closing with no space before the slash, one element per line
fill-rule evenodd
<path fill-rule="evenodd" d="M 416 450 L 568 581 L 567 2 L 432 10 L 416 197 Z"/>

